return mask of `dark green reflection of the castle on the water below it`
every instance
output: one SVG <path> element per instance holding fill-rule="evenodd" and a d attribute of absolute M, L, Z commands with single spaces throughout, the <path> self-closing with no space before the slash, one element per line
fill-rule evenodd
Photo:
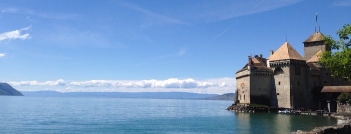
<path fill-rule="evenodd" d="M 235 118 L 238 133 L 289 133 L 337 123 L 337 119 L 330 116 L 262 112 L 235 112 Z"/>

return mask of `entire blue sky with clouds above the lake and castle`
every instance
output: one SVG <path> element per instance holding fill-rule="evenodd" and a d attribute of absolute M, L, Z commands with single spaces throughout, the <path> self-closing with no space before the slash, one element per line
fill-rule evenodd
<path fill-rule="evenodd" d="M 235 92 L 249 55 L 317 28 L 351 0 L 2 0 L 0 81 L 20 91 Z M 316 22 L 316 15 L 317 22 Z"/>

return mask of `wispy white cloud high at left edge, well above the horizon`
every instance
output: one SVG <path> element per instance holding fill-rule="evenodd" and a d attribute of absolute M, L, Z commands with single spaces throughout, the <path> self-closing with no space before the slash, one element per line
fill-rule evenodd
<path fill-rule="evenodd" d="M 21 31 L 30 29 L 31 26 L 21 28 L 20 30 L 13 30 L 4 33 L 0 33 L 0 41 L 5 39 L 28 39 L 31 36 L 28 33 L 21 34 Z"/>

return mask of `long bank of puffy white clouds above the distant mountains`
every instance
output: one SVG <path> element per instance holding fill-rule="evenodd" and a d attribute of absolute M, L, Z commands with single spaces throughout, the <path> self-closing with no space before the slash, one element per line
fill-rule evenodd
<path fill-rule="evenodd" d="M 85 80 L 85 81 L 56 81 L 38 82 L 32 81 L 8 81 L 19 90 L 57 90 L 62 92 L 71 91 L 187 91 L 199 93 L 227 93 L 235 89 L 235 78 L 216 78 L 207 80 L 195 80 L 193 78 L 178 79 L 168 78 L 165 80 Z M 33 89 L 35 87 L 35 89 Z"/>

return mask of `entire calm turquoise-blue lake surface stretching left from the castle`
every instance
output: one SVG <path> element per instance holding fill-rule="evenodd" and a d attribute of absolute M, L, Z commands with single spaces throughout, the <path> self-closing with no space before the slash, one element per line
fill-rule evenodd
<path fill-rule="evenodd" d="M 244 113 L 232 101 L 0 96 L 0 133 L 288 133 L 328 116 Z"/>

